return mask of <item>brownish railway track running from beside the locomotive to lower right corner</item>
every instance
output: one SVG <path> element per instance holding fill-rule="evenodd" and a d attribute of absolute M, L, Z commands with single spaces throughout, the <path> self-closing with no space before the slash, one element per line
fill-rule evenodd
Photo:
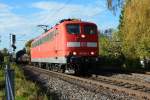
<path fill-rule="evenodd" d="M 61 80 L 67 81 L 71 84 L 78 85 L 84 89 L 90 90 L 92 92 L 99 92 L 104 90 L 112 91 L 113 93 L 125 93 L 129 96 L 137 97 L 139 100 L 145 99 L 150 100 L 150 86 L 149 84 L 137 84 L 131 81 L 110 79 L 108 77 L 98 76 L 93 78 L 81 78 L 72 75 L 66 75 L 63 73 L 57 73 L 48 71 L 45 69 L 35 68 L 31 66 L 25 67 L 27 70 L 34 70 L 38 73 L 44 73 Z"/>

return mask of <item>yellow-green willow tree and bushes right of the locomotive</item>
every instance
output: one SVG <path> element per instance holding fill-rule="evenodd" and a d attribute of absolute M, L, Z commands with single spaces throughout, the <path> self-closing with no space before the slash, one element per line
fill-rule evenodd
<path fill-rule="evenodd" d="M 149 70 L 150 1 L 124 0 L 124 2 L 118 29 L 101 32 L 100 54 L 104 58 L 112 59 L 111 63 L 114 62 L 113 59 L 118 59 L 115 60 L 116 63 L 120 62 L 121 66 L 130 70 Z"/>

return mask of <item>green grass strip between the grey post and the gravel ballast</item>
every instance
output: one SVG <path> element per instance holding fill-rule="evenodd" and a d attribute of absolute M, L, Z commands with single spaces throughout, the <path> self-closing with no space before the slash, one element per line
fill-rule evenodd
<path fill-rule="evenodd" d="M 36 83 L 26 80 L 21 66 L 13 65 L 13 69 L 15 69 L 16 100 L 48 100 Z"/>

